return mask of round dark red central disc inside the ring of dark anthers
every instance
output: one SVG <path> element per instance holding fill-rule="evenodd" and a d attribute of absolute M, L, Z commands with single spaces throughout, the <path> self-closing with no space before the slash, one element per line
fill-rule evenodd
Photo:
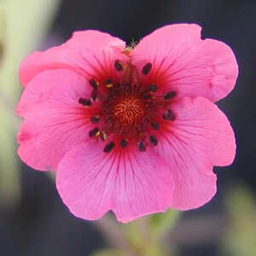
<path fill-rule="evenodd" d="M 144 99 L 144 95 L 145 91 L 137 84 L 113 85 L 102 102 L 103 129 L 120 138 L 143 139 L 154 109 L 150 98 Z"/>

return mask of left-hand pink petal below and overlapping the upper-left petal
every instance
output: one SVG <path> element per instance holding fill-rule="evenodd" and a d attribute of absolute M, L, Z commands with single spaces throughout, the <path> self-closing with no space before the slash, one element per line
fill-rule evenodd
<path fill-rule="evenodd" d="M 17 112 L 25 117 L 20 127 L 18 154 L 28 166 L 55 170 L 73 146 L 84 143 L 91 129 L 89 108 L 79 104 L 90 85 L 69 70 L 49 70 L 27 84 Z"/>

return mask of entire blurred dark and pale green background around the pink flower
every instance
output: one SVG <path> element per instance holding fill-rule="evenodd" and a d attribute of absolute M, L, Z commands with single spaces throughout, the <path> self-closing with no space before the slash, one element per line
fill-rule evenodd
<path fill-rule="evenodd" d="M 224 41 L 236 54 L 236 88 L 218 102 L 236 132 L 235 162 L 214 169 L 218 194 L 199 209 L 127 225 L 111 216 L 96 222 L 74 218 L 54 178 L 16 155 L 20 61 L 35 49 L 63 43 L 76 30 L 93 28 L 130 43 L 177 22 L 200 24 L 203 38 Z M 255 40 L 254 0 L 0 0 L 0 255 L 255 256 Z"/>

